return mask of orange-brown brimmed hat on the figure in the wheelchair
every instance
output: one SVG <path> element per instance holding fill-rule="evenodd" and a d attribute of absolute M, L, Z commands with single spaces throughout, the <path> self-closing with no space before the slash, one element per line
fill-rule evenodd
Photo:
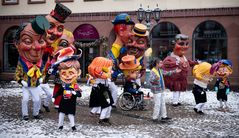
<path fill-rule="evenodd" d="M 139 61 L 133 55 L 126 55 L 122 58 L 119 68 L 122 70 L 136 69 L 140 65 Z"/>

